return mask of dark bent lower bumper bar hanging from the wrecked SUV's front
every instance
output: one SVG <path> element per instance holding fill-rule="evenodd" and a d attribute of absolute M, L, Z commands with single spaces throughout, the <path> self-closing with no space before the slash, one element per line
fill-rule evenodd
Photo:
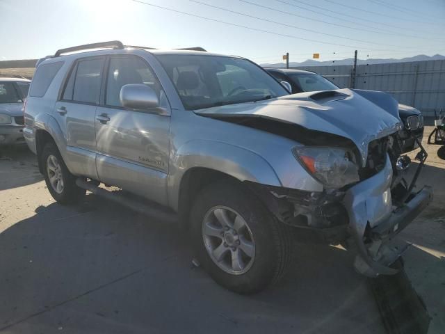
<path fill-rule="evenodd" d="M 372 228 L 366 238 L 355 238 L 358 254 L 355 257 L 354 267 L 364 276 L 377 277 L 378 275 L 394 275 L 397 269 L 390 267 L 398 257 L 410 246 L 404 241 L 394 239 L 410 224 L 423 209 L 432 201 L 432 189 L 425 186 L 418 193 L 412 193 L 410 200 L 403 207 L 396 209 L 385 221 Z"/>

